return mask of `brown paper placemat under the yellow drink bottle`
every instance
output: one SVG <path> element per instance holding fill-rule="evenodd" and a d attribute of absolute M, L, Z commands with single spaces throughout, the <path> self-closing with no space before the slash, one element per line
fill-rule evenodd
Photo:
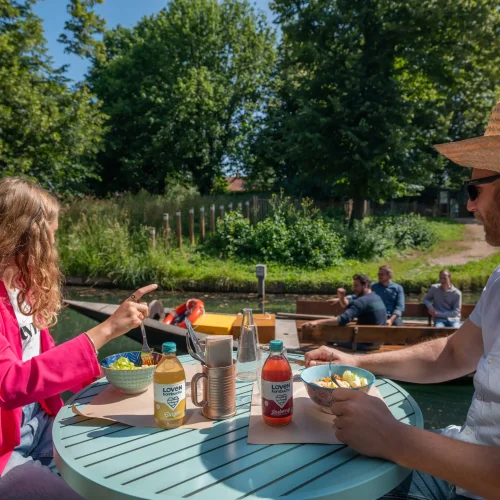
<path fill-rule="evenodd" d="M 194 406 L 191 401 L 191 379 L 196 373 L 196 365 L 184 365 L 184 372 L 186 373 L 186 418 L 181 427 L 187 429 L 212 427 L 213 421 L 206 419 L 201 414 L 201 408 Z M 153 409 L 153 384 L 141 394 L 123 394 L 109 385 L 83 408 L 73 405 L 73 413 L 77 415 L 102 418 L 133 427 L 156 427 Z"/>

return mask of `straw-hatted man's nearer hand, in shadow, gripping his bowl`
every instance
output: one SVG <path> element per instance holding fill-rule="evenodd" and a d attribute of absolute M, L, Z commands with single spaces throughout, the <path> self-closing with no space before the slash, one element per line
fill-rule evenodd
<path fill-rule="evenodd" d="M 330 407 L 336 415 L 335 435 L 363 455 L 392 460 L 402 446 L 405 424 L 397 421 L 379 398 L 351 389 L 335 389 Z"/>

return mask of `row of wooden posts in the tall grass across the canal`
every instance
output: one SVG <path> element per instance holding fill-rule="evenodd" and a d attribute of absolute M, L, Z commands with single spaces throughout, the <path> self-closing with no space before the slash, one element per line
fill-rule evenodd
<path fill-rule="evenodd" d="M 227 205 L 227 209 L 229 212 L 232 212 L 233 204 L 229 203 Z M 244 203 L 237 204 L 237 210 L 242 213 L 243 217 L 251 220 L 251 210 L 250 210 L 250 201 L 246 201 Z M 225 207 L 224 205 L 219 206 L 219 216 L 220 218 L 224 218 Z M 170 238 L 172 235 L 172 230 L 170 228 L 170 214 L 163 214 L 163 237 L 165 239 L 165 246 L 170 245 Z M 199 223 L 200 223 L 200 241 L 203 243 L 205 241 L 205 207 L 200 207 L 199 213 Z M 208 230 L 211 233 L 215 232 L 215 205 L 210 205 L 209 209 L 209 226 Z M 182 213 L 181 210 L 177 210 L 175 212 L 175 233 L 177 236 L 177 246 L 180 250 L 182 250 Z M 149 228 L 149 239 L 153 246 L 156 246 L 156 228 Z M 189 243 L 191 246 L 194 246 L 195 243 L 195 235 L 194 235 L 194 208 L 189 209 Z"/>

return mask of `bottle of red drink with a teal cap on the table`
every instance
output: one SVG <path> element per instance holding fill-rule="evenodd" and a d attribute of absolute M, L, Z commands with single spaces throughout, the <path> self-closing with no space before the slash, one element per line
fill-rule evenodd
<path fill-rule="evenodd" d="M 280 427 L 292 421 L 293 375 L 283 341 L 271 340 L 269 349 L 261 375 L 262 415 L 266 424 Z"/>

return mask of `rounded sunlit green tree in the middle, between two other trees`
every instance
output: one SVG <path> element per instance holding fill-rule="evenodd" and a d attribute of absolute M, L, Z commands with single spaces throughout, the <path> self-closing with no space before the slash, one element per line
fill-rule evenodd
<path fill-rule="evenodd" d="M 246 163 L 275 62 L 262 14 L 239 0 L 173 0 L 104 43 L 89 77 L 110 117 L 104 188 L 163 192 L 176 175 L 205 194 Z"/>

